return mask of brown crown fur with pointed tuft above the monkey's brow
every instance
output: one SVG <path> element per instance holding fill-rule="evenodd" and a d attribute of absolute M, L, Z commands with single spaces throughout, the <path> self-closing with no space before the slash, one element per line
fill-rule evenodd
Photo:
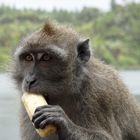
<path fill-rule="evenodd" d="M 80 34 L 78 34 L 69 25 L 60 25 L 55 21 L 48 20 L 45 25 L 27 36 L 23 40 L 23 45 L 28 44 L 55 44 L 60 46 L 75 47 L 81 40 Z M 27 44 L 27 45 L 26 45 Z M 37 47 L 38 45 L 34 45 Z"/>

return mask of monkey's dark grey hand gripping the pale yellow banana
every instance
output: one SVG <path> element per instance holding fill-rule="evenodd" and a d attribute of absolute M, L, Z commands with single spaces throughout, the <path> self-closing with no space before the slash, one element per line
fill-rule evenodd
<path fill-rule="evenodd" d="M 44 105 L 35 110 L 32 122 L 36 128 L 45 128 L 48 124 L 57 127 L 59 137 L 70 135 L 74 123 L 68 118 L 60 106 Z"/>

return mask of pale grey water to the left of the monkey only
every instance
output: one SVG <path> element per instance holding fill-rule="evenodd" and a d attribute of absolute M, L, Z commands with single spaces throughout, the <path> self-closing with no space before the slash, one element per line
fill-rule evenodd
<path fill-rule="evenodd" d="M 20 140 L 19 103 L 13 81 L 6 74 L 0 74 L 0 139 Z"/>

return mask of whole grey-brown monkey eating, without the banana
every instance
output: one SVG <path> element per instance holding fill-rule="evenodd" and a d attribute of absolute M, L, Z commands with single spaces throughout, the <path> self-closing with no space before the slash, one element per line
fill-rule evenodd
<path fill-rule="evenodd" d="M 95 58 L 90 40 L 48 21 L 21 41 L 13 55 L 20 91 L 42 94 L 32 121 L 21 103 L 22 140 L 140 140 L 140 108 L 118 72 Z M 57 132 L 41 138 L 35 128 Z"/>

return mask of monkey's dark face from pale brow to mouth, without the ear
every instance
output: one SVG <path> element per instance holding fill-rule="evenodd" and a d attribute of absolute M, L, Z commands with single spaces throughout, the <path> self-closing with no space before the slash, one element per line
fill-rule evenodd
<path fill-rule="evenodd" d="M 32 44 L 35 46 L 39 44 Z M 41 94 L 61 94 L 69 77 L 68 54 L 55 45 L 23 47 L 16 60 L 22 91 Z"/>

